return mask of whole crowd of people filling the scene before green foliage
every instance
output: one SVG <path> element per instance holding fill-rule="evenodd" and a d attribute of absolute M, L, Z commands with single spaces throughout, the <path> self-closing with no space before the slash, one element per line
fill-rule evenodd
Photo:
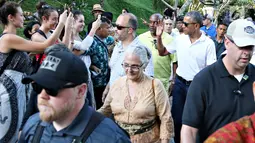
<path fill-rule="evenodd" d="M 0 2 L 1 143 L 254 142 L 252 19 L 36 9 Z"/>

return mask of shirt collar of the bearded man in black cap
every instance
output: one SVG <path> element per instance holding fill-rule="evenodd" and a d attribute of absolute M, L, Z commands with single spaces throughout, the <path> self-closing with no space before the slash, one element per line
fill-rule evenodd
<path fill-rule="evenodd" d="M 52 123 L 49 124 L 49 126 L 52 130 L 55 131 L 54 135 L 63 136 L 66 134 L 78 137 L 81 136 L 84 128 L 87 126 L 91 115 L 92 109 L 88 106 L 87 103 L 85 103 L 79 114 L 73 120 L 73 122 L 66 128 L 57 132 Z"/>

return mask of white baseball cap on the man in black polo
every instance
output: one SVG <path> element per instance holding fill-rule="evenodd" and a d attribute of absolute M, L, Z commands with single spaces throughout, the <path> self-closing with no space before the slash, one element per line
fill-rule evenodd
<path fill-rule="evenodd" d="M 245 19 L 233 21 L 229 25 L 226 35 L 238 47 L 255 46 L 255 25 L 251 21 Z"/>

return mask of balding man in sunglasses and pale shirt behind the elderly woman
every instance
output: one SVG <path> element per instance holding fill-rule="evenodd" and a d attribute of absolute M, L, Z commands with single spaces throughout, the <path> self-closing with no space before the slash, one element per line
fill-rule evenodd
<path fill-rule="evenodd" d="M 111 75 L 110 75 L 110 81 L 103 93 L 103 98 L 102 98 L 103 101 L 113 82 L 119 77 L 122 77 L 125 75 L 125 71 L 123 67 L 121 66 L 121 64 L 123 63 L 126 49 L 132 46 L 139 46 L 139 45 L 144 46 L 136 37 L 136 29 L 138 27 L 138 21 L 136 16 L 133 15 L 132 13 L 121 14 L 117 18 L 114 27 L 115 27 L 115 36 L 117 37 L 119 43 L 115 45 L 113 49 L 112 57 L 109 62 L 109 66 L 111 68 Z M 152 77 L 154 76 L 152 58 L 149 59 L 149 64 L 145 68 L 144 72 L 145 74 L 149 76 L 152 76 Z"/>

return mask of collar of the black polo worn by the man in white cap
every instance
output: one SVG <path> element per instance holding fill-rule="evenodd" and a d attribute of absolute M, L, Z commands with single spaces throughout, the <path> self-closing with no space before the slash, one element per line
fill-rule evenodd
<path fill-rule="evenodd" d="M 220 68 L 219 68 L 219 70 L 220 70 L 220 77 L 228 77 L 228 76 L 231 76 L 231 75 L 229 74 L 228 70 L 226 69 L 224 63 L 223 63 L 223 60 L 222 60 L 223 58 L 224 58 L 224 56 L 222 56 L 222 58 L 220 58 L 220 59 L 216 62 L 216 64 L 220 67 Z M 252 71 L 253 71 L 252 68 L 254 68 L 252 64 L 248 64 L 248 65 L 247 65 L 247 67 L 246 67 L 246 69 L 245 69 L 244 77 L 247 76 L 247 78 L 248 78 L 249 76 L 252 76 Z M 243 77 L 243 78 L 244 78 L 244 77 Z M 246 80 L 246 79 L 245 79 L 245 80 Z"/>

